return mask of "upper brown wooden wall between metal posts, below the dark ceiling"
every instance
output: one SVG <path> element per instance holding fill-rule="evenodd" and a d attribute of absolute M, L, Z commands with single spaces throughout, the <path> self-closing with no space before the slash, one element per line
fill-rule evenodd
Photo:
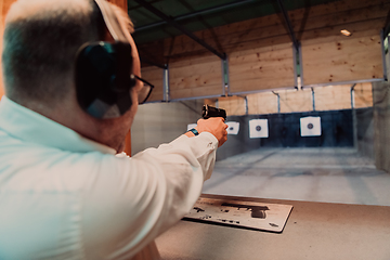
<path fill-rule="evenodd" d="M 302 46 L 304 86 L 382 78 L 379 32 L 385 27 L 389 9 L 390 0 L 340 0 L 289 11 Z M 352 36 L 342 36 L 341 29 L 349 29 Z M 291 40 L 280 14 L 196 31 L 195 35 L 227 54 L 231 93 L 295 87 Z M 147 43 L 140 50 L 148 53 L 148 58 L 164 61 L 170 67 L 179 67 L 176 63 L 183 60 L 214 56 L 185 35 Z M 206 64 L 203 66 L 207 67 Z M 214 66 L 221 65 L 216 63 Z M 187 70 L 190 74 L 182 74 L 179 81 L 172 81 L 176 86 L 170 86 L 186 90 L 186 94 L 179 96 L 216 93 L 205 92 L 209 82 L 214 82 L 213 75 Z M 194 80 L 199 77 L 206 79 L 202 88 Z"/>

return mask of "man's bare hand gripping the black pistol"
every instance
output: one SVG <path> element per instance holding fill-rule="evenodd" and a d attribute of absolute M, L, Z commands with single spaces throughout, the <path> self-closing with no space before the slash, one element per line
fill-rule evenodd
<path fill-rule="evenodd" d="M 224 123 L 222 117 L 210 117 L 208 119 L 199 119 L 195 129 L 199 133 L 209 132 L 214 135 L 218 139 L 218 147 L 220 147 L 227 140 L 226 128 L 227 125 Z"/>

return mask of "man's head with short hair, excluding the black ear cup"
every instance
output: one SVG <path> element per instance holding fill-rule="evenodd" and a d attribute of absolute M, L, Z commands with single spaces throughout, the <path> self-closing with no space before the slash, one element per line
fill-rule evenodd
<path fill-rule="evenodd" d="M 129 74 L 141 76 L 128 15 L 108 2 L 103 4 L 114 9 L 132 47 L 133 72 Z M 18 0 L 5 20 L 2 54 L 5 93 L 87 138 L 117 148 L 119 144 L 115 143 L 125 139 L 123 132 L 131 126 L 142 84 L 138 82 L 131 89 L 133 105 L 119 118 L 99 120 L 83 113 L 76 100 L 75 58 L 82 44 L 94 41 L 114 39 L 93 0 Z"/>

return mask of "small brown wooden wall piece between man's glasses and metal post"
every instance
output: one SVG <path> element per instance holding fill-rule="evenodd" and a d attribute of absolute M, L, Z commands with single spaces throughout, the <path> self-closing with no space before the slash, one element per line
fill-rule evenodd
<path fill-rule="evenodd" d="M 154 84 L 151 96 L 147 102 L 164 100 L 164 69 L 159 67 L 142 67 L 142 78 Z"/>

